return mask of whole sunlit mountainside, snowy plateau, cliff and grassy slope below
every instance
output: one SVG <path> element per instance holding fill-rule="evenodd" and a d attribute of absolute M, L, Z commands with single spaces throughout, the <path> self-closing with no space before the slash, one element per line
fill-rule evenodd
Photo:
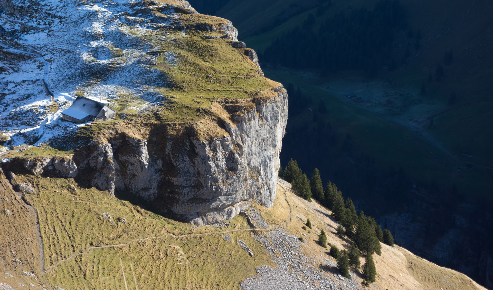
<path fill-rule="evenodd" d="M 348 246 L 329 212 L 277 182 L 286 90 L 230 22 L 186 1 L 0 3 L 0 289 L 363 288 L 314 240 Z M 62 121 L 77 95 L 119 119 Z M 376 285 L 482 289 L 412 256 L 384 246 Z"/>

